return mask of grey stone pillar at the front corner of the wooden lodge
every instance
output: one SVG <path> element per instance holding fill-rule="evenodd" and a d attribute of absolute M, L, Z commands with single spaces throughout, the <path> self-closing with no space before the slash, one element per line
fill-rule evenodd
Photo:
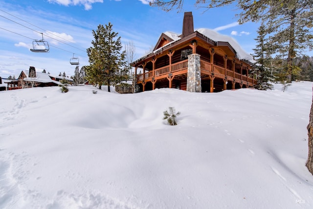
<path fill-rule="evenodd" d="M 200 55 L 188 55 L 187 92 L 201 92 Z"/>

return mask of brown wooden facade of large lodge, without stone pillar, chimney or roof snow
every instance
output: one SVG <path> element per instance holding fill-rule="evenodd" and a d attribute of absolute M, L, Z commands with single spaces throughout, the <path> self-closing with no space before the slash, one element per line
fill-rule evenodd
<path fill-rule="evenodd" d="M 139 92 L 156 88 L 187 90 L 189 54 L 200 55 L 201 92 L 221 92 L 256 84 L 253 74 L 249 74 L 250 64 L 236 58 L 228 43 L 214 42 L 195 31 L 133 63 Z"/>

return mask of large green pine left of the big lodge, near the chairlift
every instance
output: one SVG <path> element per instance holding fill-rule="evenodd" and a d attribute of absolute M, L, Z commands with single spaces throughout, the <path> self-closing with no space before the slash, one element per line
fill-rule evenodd
<path fill-rule="evenodd" d="M 116 85 L 127 79 L 126 52 L 122 50 L 121 37 L 112 31 L 112 24 L 98 25 L 96 31 L 92 30 L 94 40 L 92 47 L 87 49 L 89 66 L 86 66 L 86 77 L 91 83 Z"/>

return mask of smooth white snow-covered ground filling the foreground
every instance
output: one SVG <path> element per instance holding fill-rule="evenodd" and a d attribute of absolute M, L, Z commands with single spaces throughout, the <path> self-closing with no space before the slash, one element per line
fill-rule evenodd
<path fill-rule="evenodd" d="M 0 208 L 312 209 L 312 84 L 0 92 Z"/>

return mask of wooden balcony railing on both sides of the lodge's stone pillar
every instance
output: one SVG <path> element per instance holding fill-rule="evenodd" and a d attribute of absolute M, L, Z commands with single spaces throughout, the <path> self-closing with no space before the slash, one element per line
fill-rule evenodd
<path fill-rule="evenodd" d="M 180 61 L 178 63 L 174 63 L 171 66 L 164 66 L 162 68 L 156 69 L 154 70 L 154 74 L 153 74 L 153 70 L 146 72 L 146 73 L 142 73 L 142 74 L 137 74 L 137 82 L 141 83 L 144 81 L 151 81 L 154 79 L 158 79 L 158 78 L 165 78 L 168 76 L 168 74 L 171 72 L 172 74 L 183 74 L 186 73 L 186 70 L 188 69 L 188 60 L 183 60 Z M 235 79 L 236 82 L 241 82 L 241 81 L 245 81 L 252 84 L 256 84 L 256 80 L 247 77 L 246 75 L 241 75 L 240 73 L 234 72 L 232 70 L 226 70 L 224 67 L 218 66 L 218 65 L 214 65 L 211 64 L 209 62 L 206 62 L 204 60 L 200 60 L 200 69 L 201 69 L 201 74 L 207 74 L 207 75 L 211 75 L 212 72 L 214 73 L 215 77 L 219 77 L 219 78 L 225 78 L 225 76 L 230 78 Z M 170 71 L 171 70 L 171 71 Z"/>

